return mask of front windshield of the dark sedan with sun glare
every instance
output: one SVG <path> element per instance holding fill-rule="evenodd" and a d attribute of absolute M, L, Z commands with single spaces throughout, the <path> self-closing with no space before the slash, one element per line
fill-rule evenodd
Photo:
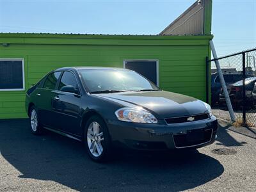
<path fill-rule="evenodd" d="M 90 93 L 157 91 L 157 86 L 132 70 L 88 69 L 79 74 Z"/>

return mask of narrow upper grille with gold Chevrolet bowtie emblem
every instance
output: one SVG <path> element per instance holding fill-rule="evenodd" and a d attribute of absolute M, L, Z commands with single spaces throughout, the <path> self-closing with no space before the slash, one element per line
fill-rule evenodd
<path fill-rule="evenodd" d="M 209 119 L 208 113 L 191 115 L 191 116 L 165 118 L 165 122 L 166 124 L 180 124 L 180 123 L 187 123 L 187 122 L 196 122 L 196 121 L 205 120 L 205 119 Z"/>

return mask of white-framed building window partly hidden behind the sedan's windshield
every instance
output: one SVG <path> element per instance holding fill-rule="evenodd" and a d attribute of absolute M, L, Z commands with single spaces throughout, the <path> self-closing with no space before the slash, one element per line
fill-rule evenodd
<path fill-rule="evenodd" d="M 124 68 L 138 72 L 159 86 L 158 60 L 124 60 Z"/>

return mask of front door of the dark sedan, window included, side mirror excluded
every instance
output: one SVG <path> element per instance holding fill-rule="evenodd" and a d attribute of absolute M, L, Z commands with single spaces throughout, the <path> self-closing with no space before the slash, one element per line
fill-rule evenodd
<path fill-rule="evenodd" d="M 76 93 L 61 92 L 63 86 L 72 85 L 76 88 Z M 79 129 L 81 92 L 77 84 L 76 76 L 71 71 L 63 72 L 58 90 L 55 91 L 52 100 L 52 111 L 54 111 L 55 127 L 63 132 L 80 136 Z"/>

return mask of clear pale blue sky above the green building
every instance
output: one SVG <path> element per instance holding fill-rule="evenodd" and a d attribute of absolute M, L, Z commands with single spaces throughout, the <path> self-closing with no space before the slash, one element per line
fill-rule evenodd
<path fill-rule="evenodd" d="M 158 34 L 195 0 L 0 0 L 0 32 Z M 256 0 L 213 0 L 218 56 L 256 47 Z"/>

